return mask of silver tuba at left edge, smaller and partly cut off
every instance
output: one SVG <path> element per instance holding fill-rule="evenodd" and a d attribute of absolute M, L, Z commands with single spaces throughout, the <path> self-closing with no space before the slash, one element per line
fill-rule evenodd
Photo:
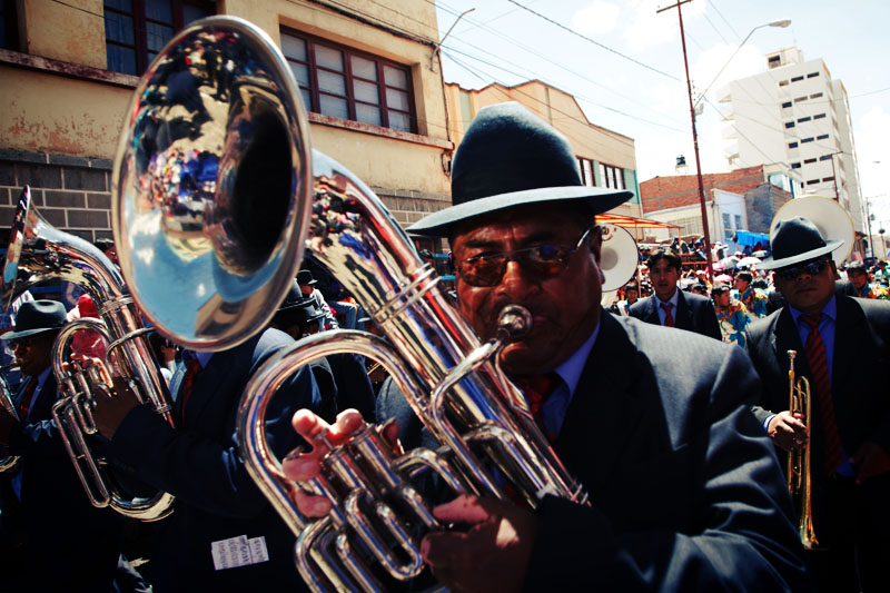
<path fill-rule="evenodd" d="M 3 267 L 3 305 L 10 304 L 29 286 L 50 279 L 73 283 L 96 303 L 100 319 L 71 322 L 52 346 L 52 369 L 61 395 L 52 406 L 59 434 L 75 464 L 80 482 L 93 506 L 110 506 L 118 513 L 141 521 L 155 521 L 172 511 L 172 495 L 159 492 L 150 497 L 131 497 L 116 486 L 106 459 L 90 449 L 87 436 L 97 432 L 92 419 L 92 393 L 83 372 L 63 368 L 67 345 L 80 329 L 103 336 L 117 368 L 130 379 L 141 402 L 174 425 L 167 384 L 158 370 L 132 298 L 115 265 L 86 240 L 62 233 L 47 223 L 31 205 L 26 187 L 19 198 Z M 96 377 L 97 369 L 89 370 Z"/>

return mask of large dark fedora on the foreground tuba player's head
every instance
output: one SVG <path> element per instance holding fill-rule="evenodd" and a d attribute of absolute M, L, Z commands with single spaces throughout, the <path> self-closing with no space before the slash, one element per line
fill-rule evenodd
<path fill-rule="evenodd" d="M 408 231 L 429 237 L 452 225 L 524 204 L 583 201 L 591 216 L 627 201 L 633 192 L 581 182 L 572 145 L 517 102 L 479 109 L 452 164 L 453 206 L 431 214 Z"/>

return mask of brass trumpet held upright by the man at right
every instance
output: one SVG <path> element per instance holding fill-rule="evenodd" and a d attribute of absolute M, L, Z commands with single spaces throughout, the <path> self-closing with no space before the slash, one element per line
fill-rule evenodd
<path fill-rule="evenodd" d="M 798 377 L 794 373 L 794 357 L 798 350 L 788 350 L 790 366 L 788 369 L 789 380 L 789 411 L 792 414 L 803 414 L 803 422 L 810 426 L 811 402 L 810 382 L 807 377 Z M 810 436 L 812 438 L 812 435 Z M 788 454 L 788 492 L 794 502 L 798 511 L 798 532 L 803 547 L 812 550 L 819 545 L 813 530 L 813 508 L 812 508 L 812 481 L 810 477 L 810 447 L 812 441 L 807 443 L 802 451 L 792 451 Z"/>

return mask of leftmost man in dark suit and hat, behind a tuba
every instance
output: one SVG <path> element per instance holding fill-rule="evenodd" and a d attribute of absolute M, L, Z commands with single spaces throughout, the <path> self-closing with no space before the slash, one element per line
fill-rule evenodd
<path fill-rule="evenodd" d="M 61 303 L 28 302 L 3 336 L 27 377 L 19 419 L 0 407 L 0 443 L 20 456 L 0 484 L 3 591 L 111 591 L 120 556 L 122 517 L 90 504 L 52 419 L 51 348 L 65 322 Z"/>

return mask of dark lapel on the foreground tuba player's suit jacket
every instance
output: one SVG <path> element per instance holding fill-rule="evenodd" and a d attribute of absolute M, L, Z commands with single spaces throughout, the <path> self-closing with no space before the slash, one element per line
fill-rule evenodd
<path fill-rule="evenodd" d="M 584 472 L 582 482 L 595 490 L 615 468 L 619 453 L 633 435 L 642 411 L 629 372 L 635 349 L 626 330 L 603 312 L 596 337 L 556 442 L 570 472 Z"/>

